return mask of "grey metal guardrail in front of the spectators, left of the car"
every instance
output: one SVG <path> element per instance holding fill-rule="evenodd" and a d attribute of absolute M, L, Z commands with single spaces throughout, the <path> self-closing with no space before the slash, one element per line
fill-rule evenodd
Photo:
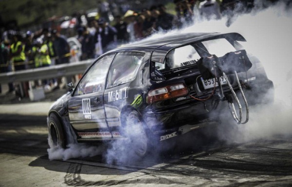
<path fill-rule="evenodd" d="M 50 67 L 21 70 L 17 72 L 8 72 L 0 74 L 0 83 L 22 82 L 29 80 L 38 80 L 46 78 L 55 78 L 68 75 L 83 74 L 91 65 L 94 59 L 71 62 L 68 64 L 59 64 Z"/>

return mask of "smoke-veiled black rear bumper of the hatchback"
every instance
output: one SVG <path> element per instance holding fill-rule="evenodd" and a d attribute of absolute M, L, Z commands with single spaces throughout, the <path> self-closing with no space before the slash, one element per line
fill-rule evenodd
<path fill-rule="evenodd" d="M 236 90 L 238 93 L 238 88 Z M 243 92 L 249 106 L 274 101 L 274 84 L 269 79 L 251 82 L 248 88 L 243 88 Z M 238 97 L 240 99 L 241 95 L 239 94 Z M 211 111 L 210 109 L 216 102 L 218 102 L 218 106 Z M 241 104 L 243 104 L 243 101 Z M 145 112 L 143 116 L 152 133 L 161 135 L 161 140 L 163 140 L 209 124 L 218 124 L 220 121 L 219 115 L 222 113 L 229 114 L 230 110 L 227 101 L 222 101 L 219 92 L 217 92 L 207 101 L 189 99 L 182 102 L 182 105 L 156 112 L 150 110 Z M 232 118 L 231 115 L 230 117 Z"/>

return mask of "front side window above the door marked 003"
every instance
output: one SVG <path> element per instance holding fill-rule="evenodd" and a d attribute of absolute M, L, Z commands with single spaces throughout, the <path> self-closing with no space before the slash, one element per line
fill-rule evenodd
<path fill-rule="evenodd" d="M 106 76 L 114 56 L 104 56 L 96 61 L 87 74 L 79 81 L 73 96 L 104 90 Z"/>

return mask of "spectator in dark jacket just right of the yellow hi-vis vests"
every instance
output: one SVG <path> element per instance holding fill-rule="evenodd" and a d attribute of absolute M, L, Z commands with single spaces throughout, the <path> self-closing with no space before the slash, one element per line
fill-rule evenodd
<path fill-rule="evenodd" d="M 60 34 L 57 33 L 56 30 L 53 30 L 52 41 L 53 41 L 53 46 L 55 48 L 55 53 L 57 56 L 55 64 L 69 63 L 70 46 L 67 40 L 64 37 L 60 36 Z"/>

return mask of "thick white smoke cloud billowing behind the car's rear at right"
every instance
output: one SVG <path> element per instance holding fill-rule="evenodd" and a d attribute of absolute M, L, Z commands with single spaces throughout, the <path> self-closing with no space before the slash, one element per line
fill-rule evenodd
<path fill-rule="evenodd" d="M 245 46 L 247 52 L 257 56 L 262 62 L 268 78 L 274 82 L 275 97 L 273 105 L 250 107 L 249 122 L 240 125 L 238 131 L 230 131 L 228 133 L 230 137 L 226 135 L 228 129 L 219 130 L 219 136 L 229 142 L 246 142 L 275 134 L 291 134 L 292 59 L 289 57 L 292 51 L 291 10 L 287 11 L 287 7 L 279 3 L 260 12 L 238 16 L 228 28 L 222 27 L 223 21 L 215 21 L 214 25 L 220 32 L 238 32 L 247 39 L 247 43 L 241 44 Z M 205 28 L 210 26 L 202 24 Z"/>

